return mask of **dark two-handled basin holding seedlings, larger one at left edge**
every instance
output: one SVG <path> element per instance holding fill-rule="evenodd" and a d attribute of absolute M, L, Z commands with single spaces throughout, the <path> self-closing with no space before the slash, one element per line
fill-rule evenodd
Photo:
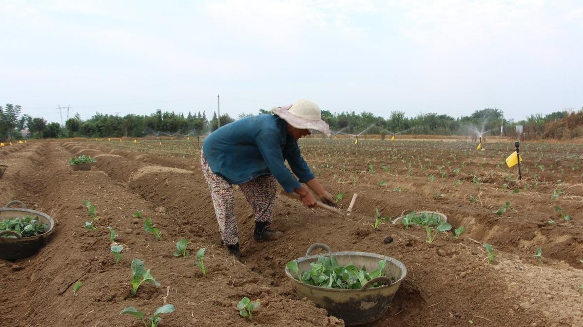
<path fill-rule="evenodd" d="M 20 204 L 23 208 L 9 208 L 12 204 Z M 37 251 L 45 244 L 48 236 L 52 233 L 55 226 L 52 218 L 44 212 L 27 209 L 26 205 L 20 201 L 10 201 L 6 207 L 0 208 L 0 222 L 2 222 L 2 229 L 5 222 L 10 219 L 24 218 L 30 216 L 37 219 L 37 225 L 45 225 L 43 232 L 34 236 L 22 236 L 29 229 L 28 226 L 22 230 L 22 233 L 13 230 L 0 230 L 0 258 L 4 260 L 16 260 L 26 258 L 37 253 Z"/>

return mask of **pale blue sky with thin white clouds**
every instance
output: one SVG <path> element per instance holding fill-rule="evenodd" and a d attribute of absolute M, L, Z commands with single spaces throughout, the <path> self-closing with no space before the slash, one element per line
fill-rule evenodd
<path fill-rule="evenodd" d="M 507 119 L 583 107 L 583 1 L 0 0 L 0 105 L 79 113 L 305 98 L 331 112 Z"/>

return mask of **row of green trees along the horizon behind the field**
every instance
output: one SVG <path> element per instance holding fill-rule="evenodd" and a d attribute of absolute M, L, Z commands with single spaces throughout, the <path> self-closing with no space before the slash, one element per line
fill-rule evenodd
<path fill-rule="evenodd" d="M 269 113 L 265 109 L 259 109 L 258 113 Z M 322 111 L 322 119 L 330 126 L 333 134 L 436 134 L 436 135 L 472 135 L 485 132 L 484 135 L 500 135 L 500 125 L 504 125 L 505 136 L 516 136 L 515 126 L 524 126 L 524 133 L 529 138 L 537 137 L 577 137 L 582 136 L 583 129 L 575 127 L 560 129 L 560 123 L 573 115 L 583 115 L 583 109 L 579 113 L 557 111 L 548 115 L 535 114 L 524 120 L 514 122 L 503 118 L 503 112 L 496 108 L 486 108 L 473 112 L 469 116 L 454 118 L 449 115 L 437 113 L 420 113 L 417 116 L 407 117 L 405 112 L 392 111 L 387 118 L 364 111 L 361 113 L 340 112 L 332 113 Z M 241 113 L 237 119 L 250 114 Z M 220 125 L 234 122 L 225 113 L 220 115 Z M 571 118 L 573 120 L 573 118 Z M 558 124 L 558 125 L 557 125 Z M 573 125 L 573 123 L 571 123 Z M 549 126 L 557 133 L 547 133 Z M 107 115 L 96 113 L 91 118 L 82 120 L 79 114 L 69 118 L 65 126 L 59 123 L 47 123 L 44 118 L 31 117 L 22 114 L 19 105 L 6 104 L 0 106 L 0 140 L 18 140 L 23 137 L 31 138 L 58 138 L 58 137 L 143 137 L 148 134 L 167 133 L 183 135 L 205 135 L 219 127 L 219 118 L 213 112 L 209 120 L 206 112 L 175 113 L 174 111 L 161 111 L 157 109 L 151 115 L 125 116 Z M 28 134 L 24 133 L 28 131 Z M 24 134 L 23 134 L 24 133 Z"/>

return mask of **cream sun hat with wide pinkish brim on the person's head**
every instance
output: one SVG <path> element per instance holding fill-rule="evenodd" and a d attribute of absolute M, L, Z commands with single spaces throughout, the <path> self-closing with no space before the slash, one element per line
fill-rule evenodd
<path fill-rule="evenodd" d="M 322 120 L 319 106 L 310 100 L 301 99 L 291 106 L 276 106 L 271 112 L 297 129 L 315 129 L 330 135 L 330 127 Z"/>

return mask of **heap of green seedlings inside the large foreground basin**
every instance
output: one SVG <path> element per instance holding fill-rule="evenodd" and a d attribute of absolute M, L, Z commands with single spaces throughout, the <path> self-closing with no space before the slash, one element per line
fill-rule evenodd
<path fill-rule="evenodd" d="M 327 287 L 331 289 L 361 289 L 368 281 L 377 277 L 386 276 L 387 260 L 378 261 L 378 268 L 371 272 L 359 269 L 353 264 L 340 266 L 336 257 L 318 257 L 318 261 L 311 262 L 311 269 L 300 272 L 297 261 L 287 262 L 286 268 L 297 276 L 300 282 L 308 285 Z M 381 286 L 375 283 L 371 287 Z"/>

